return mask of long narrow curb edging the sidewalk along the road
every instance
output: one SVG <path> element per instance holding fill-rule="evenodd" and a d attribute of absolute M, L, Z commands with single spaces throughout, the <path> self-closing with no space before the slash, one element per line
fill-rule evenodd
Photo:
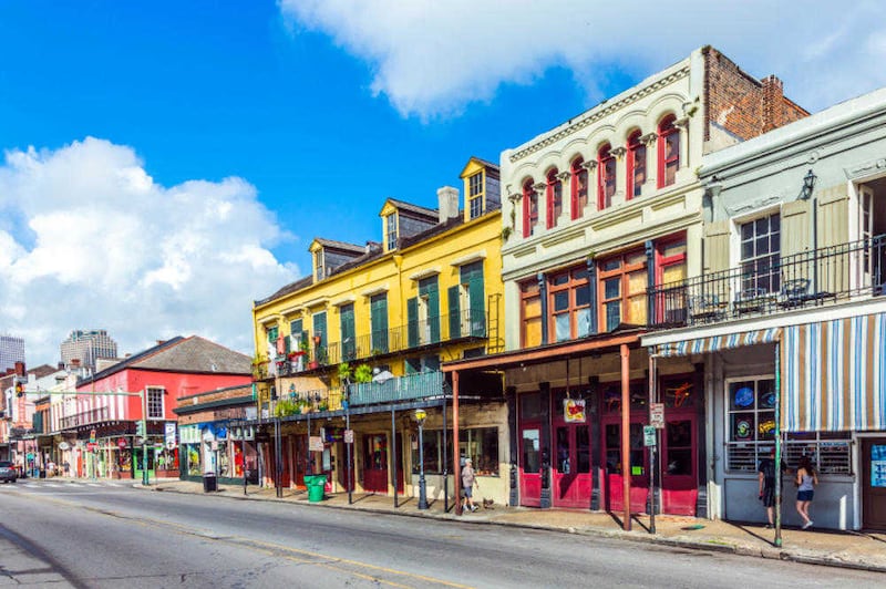
<path fill-rule="evenodd" d="M 165 489 L 159 488 L 158 486 L 148 486 L 143 487 L 141 484 L 134 485 L 135 488 L 142 488 L 144 490 L 155 490 L 155 492 L 163 492 L 163 493 L 176 493 L 179 495 L 213 495 L 212 493 L 206 494 L 197 494 L 197 493 L 188 493 L 185 490 L 178 489 Z M 841 560 L 830 556 L 817 556 L 811 554 L 797 554 L 791 550 L 784 550 L 774 547 L 752 547 L 745 545 L 736 545 L 723 540 L 723 544 L 712 544 L 713 539 L 710 540 L 689 540 L 684 538 L 666 538 L 661 536 L 653 536 L 653 535 L 636 535 L 632 531 L 624 531 L 624 530 L 606 530 L 606 529 L 598 529 L 598 528 L 562 528 L 557 526 L 546 526 L 543 524 L 525 524 L 522 521 L 496 521 L 492 519 L 465 519 L 463 517 L 456 516 L 455 514 L 425 514 L 425 513 L 410 513 L 410 512 L 389 512 L 387 509 L 378 509 L 374 507 L 353 507 L 348 505 L 334 505 L 329 503 L 309 503 L 308 500 L 287 500 L 284 498 L 278 497 L 250 497 L 250 496 L 238 496 L 238 495 L 217 495 L 218 497 L 225 497 L 228 499 L 237 499 L 237 500 L 250 500 L 250 502 L 275 502 L 275 503 L 289 503 L 292 505 L 302 505 L 302 506 L 312 506 L 312 507 L 321 507 L 326 509 L 340 509 L 347 512 L 359 512 L 365 514 L 377 514 L 377 515 L 393 515 L 400 517 L 413 517 L 413 518 L 422 518 L 422 519 L 434 519 L 439 521 L 460 521 L 464 524 L 472 524 L 472 525 L 485 525 L 485 526 L 502 526 L 502 527 L 512 527 L 512 528 L 522 528 L 522 529 L 535 529 L 540 531 L 555 531 L 559 534 L 577 534 L 581 536 L 593 536 L 598 538 L 608 538 L 608 539 L 617 539 L 617 540 L 628 540 L 639 544 L 650 544 L 650 545 L 662 545 L 669 546 L 673 548 L 683 548 L 688 550 L 699 550 L 705 552 L 721 552 L 721 554 L 732 554 L 735 556 L 746 556 L 746 557 L 755 557 L 755 558 L 764 558 L 767 560 L 786 560 L 803 565 L 817 565 L 824 567 L 832 567 L 832 568 L 844 568 L 844 569 L 853 569 L 853 570 L 864 570 L 869 572 L 886 572 L 886 565 L 864 565 L 861 562 L 852 562 L 846 560 Z"/>

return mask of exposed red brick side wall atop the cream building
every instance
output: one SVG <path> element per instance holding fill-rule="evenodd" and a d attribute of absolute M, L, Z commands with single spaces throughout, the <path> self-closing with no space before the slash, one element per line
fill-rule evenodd
<path fill-rule="evenodd" d="M 774 75 L 756 80 L 710 46 L 703 54 L 705 141 L 711 125 L 744 141 L 808 116 L 784 96 L 782 81 Z"/>

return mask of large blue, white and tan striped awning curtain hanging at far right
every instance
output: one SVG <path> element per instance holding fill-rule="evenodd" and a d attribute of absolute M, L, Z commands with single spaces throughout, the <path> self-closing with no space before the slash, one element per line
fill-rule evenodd
<path fill-rule="evenodd" d="M 784 329 L 789 432 L 886 428 L 886 313 Z"/>

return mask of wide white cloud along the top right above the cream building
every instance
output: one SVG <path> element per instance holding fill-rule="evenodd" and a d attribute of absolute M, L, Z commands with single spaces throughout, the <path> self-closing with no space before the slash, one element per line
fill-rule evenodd
<path fill-rule="evenodd" d="M 712 44 L 758 76 L 775 73 L 813 110 L 886 84 L 878 2 L 744 0 L 279 0 L 293 30 L 365 61 L 371 89 L 405 116 L 460 112 L 503 84 L 571 70 L 598 100 L 612 68 L 647 75 Z M 882 33 L 880 33 L 882 34 Z"/>

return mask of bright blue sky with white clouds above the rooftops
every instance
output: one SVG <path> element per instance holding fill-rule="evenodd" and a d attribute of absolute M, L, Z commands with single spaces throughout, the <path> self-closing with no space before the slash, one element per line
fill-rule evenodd
<path fill-rule="evenodd" d="M 380 240 L 385 198 L 435 207 L 705 44 L 813 112 L 886 85 L 875 1 L 6 0 L 0 334 L 251 355 L 315 237 Z"/>

